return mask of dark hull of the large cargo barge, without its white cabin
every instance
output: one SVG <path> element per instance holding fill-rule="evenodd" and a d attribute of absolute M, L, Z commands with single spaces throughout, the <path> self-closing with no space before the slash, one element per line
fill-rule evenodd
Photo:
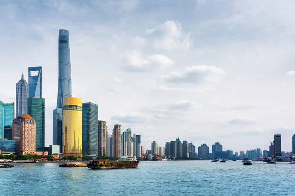
<path fill-rule="evenodd" d="M 122 161 L 120 162 L 113 162 L 112 164 L 87 164 L 88 168 L 91 169 L 124 169 L 124 168 L 137 168 L 139 161 Z"/>

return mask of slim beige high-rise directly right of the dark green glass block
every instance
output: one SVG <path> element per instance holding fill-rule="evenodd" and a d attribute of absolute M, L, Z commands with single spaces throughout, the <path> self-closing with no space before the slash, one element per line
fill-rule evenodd
<path fill-rule="evenodd" d="M 108 147 L 108 124 L 106 121 L 98 121 L 98 156 L 112 156 L 108 151 L 112 151 L 112 147 Z M 112 143 L 111 143 L 112 144 Z"/>

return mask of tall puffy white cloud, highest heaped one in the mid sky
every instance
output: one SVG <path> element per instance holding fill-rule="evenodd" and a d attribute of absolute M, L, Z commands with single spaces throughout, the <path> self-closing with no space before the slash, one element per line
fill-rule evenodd
<path fill-rule="evenodd" d="M 178 21 L 167 20 L 159 26 L 162 36 L 154 41 L 156 49 L 184 49 L 188 50 L 192 43 L 190 33 L 182 31 L 182 25 Z"/>

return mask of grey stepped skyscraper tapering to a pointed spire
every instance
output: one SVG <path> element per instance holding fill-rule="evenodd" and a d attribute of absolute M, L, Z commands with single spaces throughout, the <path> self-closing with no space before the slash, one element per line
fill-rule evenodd
<path fill-rule="evenodd" d="M 24 73 L 18 83 L 16 83 L 16 115 L 27 114 L 27 98 L 29 97 L 29 85 L 24 78 Z"/>

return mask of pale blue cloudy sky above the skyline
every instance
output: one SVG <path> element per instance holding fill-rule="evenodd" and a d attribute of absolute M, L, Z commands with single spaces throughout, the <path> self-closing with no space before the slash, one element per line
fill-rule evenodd
<path fill-rule="evenodd" d="M 286 0 L 1 0 L 0 100 L 15 102 L 42 66 L 45 146 L 52 144 L 58 31 L 70 38 L 72 96 L 140 134 L 151 149 L 282 151 L 295 133 L 295 2 Z"/>

